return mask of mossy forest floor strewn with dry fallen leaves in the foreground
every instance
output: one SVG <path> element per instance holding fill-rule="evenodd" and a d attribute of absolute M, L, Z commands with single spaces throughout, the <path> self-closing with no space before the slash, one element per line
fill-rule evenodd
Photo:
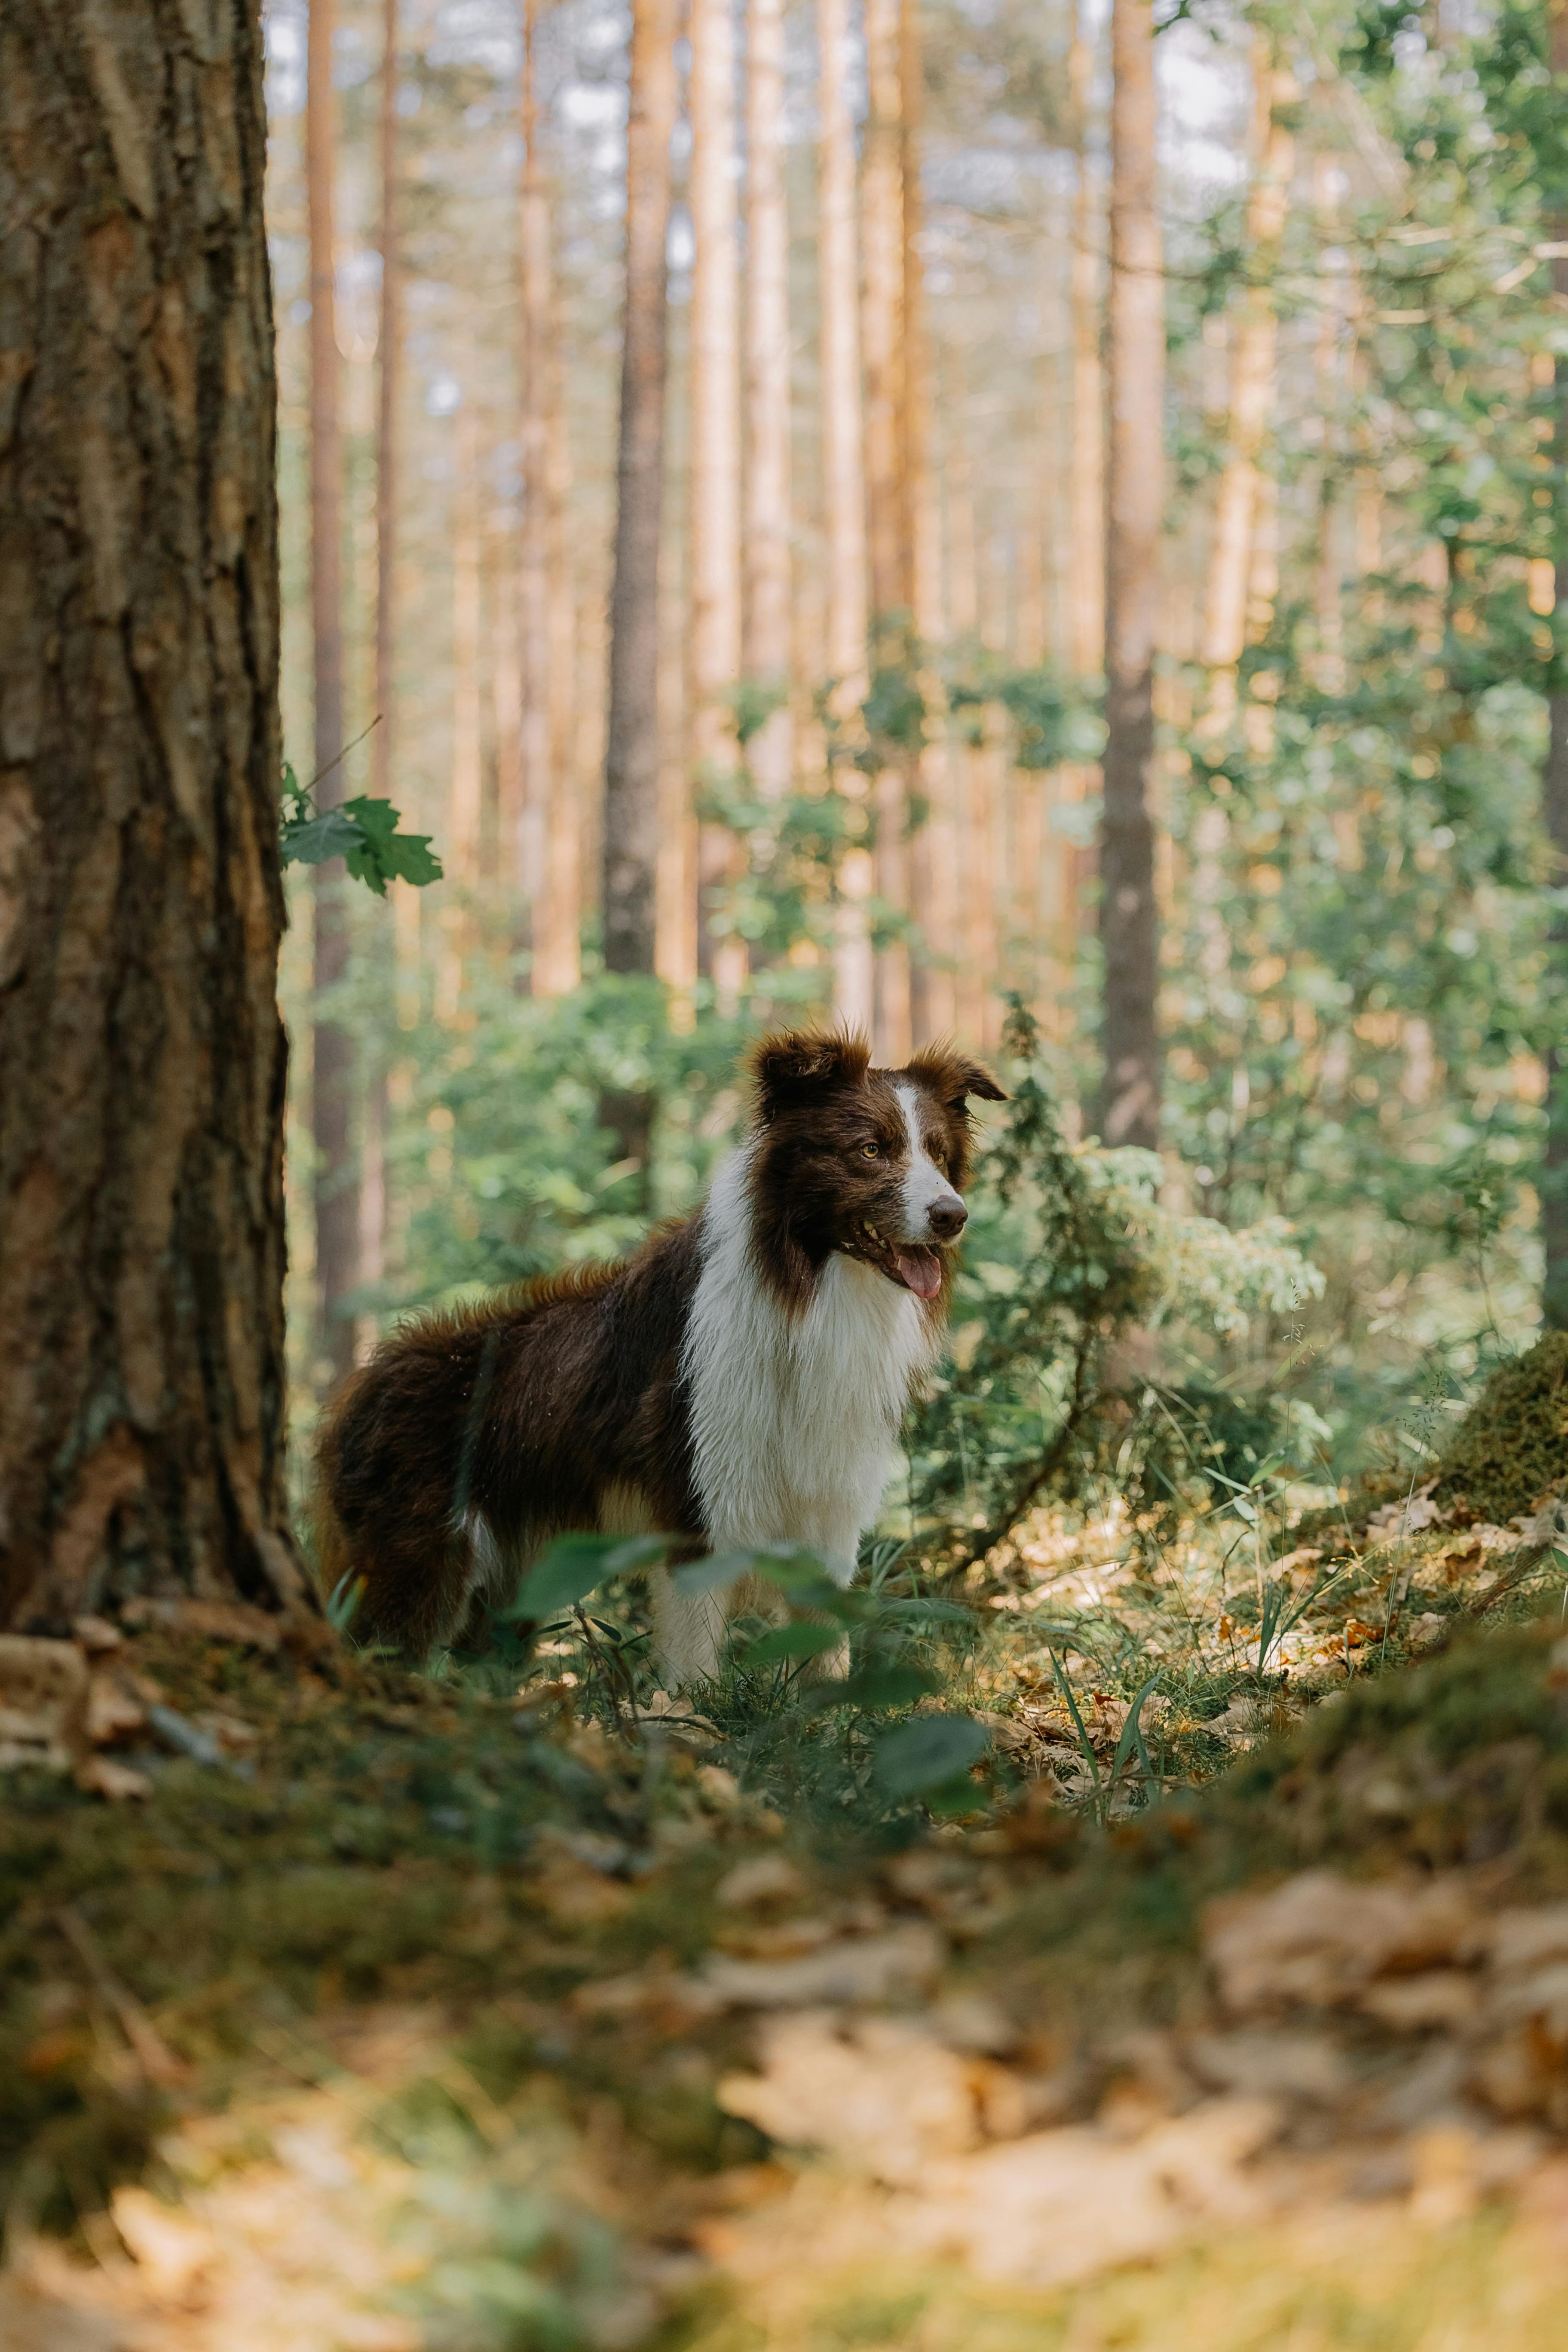
<path fill-rule="evenodd" d="M 0 2352 L 1561 2345 L 1549 1529 L 1295 1552 L 1025 1529 L 938 1823 L 559 1656 L 87 1625 L 5 1783 Z"/>

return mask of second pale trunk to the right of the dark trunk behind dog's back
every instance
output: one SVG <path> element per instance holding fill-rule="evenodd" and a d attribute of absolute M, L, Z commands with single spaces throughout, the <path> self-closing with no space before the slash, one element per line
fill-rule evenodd
<path fill-rule="evenodd" d="M 745 108 L 745 640 L 752 687 L 778 696 L 752 736 L 769 800 L 790 790 L 790 221 L 783 183 L 783 0 L 750 0 Z"/>

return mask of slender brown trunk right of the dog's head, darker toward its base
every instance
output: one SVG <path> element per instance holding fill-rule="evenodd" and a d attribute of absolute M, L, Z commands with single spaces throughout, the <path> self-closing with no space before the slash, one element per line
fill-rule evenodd
<path fill-rule="evenodd" d="M 1150 0 L 1112 0 L 1110 445 L 1105 532 L 1105 950 L 1100 1134 L 1159 1143 L 1154 623 L 1164 494 L 1164 287 Z"/>

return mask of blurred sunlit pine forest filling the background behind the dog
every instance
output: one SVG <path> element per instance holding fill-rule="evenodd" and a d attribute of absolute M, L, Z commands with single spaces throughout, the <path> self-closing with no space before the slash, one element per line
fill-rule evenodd
<path fill-rule="evenodd" d="M 1291 1223 L 1321 1298 L 1206 1376 L 1288 1385 L 1349 1468 L 1420 1378 L 1568 1319 L 1563 35 L 1514 0 L 1124 5 L 1112 73 L 1063 0 L 635 12 L 266 14 L 289 760 L 444 861 L 390 920 L 294 870 L 296 1388 L 684 1209 L 759 1023 L 997 1054 L 1016 993 L 1070 1136 L 1159 1141 L 1175 1211 Z M 668 383 L 623 750 L 658 840 L 651 941 L 607 960 L 635 42 Z M 1117 202 L 1157 233 L 1124 390 L 1164 454 L 1107 416 L 1117 75 Z M 1119 501 L 1159 517 L 1121 543 L 1157 597 L 1131 1110 L 1100 1080 Z M 1016 1279 L 994 1251 L 978 1291 Z"/>

